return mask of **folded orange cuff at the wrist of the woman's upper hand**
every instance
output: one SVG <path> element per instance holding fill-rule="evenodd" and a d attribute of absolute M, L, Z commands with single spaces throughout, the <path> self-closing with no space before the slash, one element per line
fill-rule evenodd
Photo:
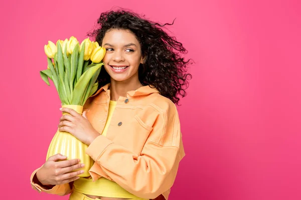
<path fill-rule="evenodd" d="M 86 149 L 86 153 L 92 157 L 94 161 L 97 160 L 99 155 L 104 151 L 104 149 L 112 144 L 113 142 L 103 135 L 97 136 Z"/>

